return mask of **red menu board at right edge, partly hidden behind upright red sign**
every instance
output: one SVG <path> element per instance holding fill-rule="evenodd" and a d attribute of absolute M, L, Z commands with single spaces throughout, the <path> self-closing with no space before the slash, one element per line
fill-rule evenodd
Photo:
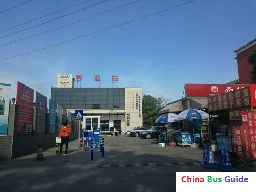
<path fill-rule="evenodd" d="M 252 159 L 256 159 L 256 113 L 242 112 L 242 126 L 247 126 L 249 129 L 249 140 Z"/>

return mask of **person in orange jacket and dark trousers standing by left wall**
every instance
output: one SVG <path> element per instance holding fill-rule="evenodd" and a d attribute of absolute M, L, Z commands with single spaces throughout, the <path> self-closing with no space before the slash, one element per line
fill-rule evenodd
<path fill-rule="evenodd" d="M 65 143 L 64 155 L 67 155 L 70 133 L 71 133 L 71 126 L 67 123 L 67 121 L 63 121 L 63 124 L 62 124 L 62 126 L 60 128 L 60 132 L 59 132 L 59 137 L 61 137 L 61 143 L 60 143 L 60 151 L 59 151 L 58 155 L 61 155 L 64 143 Z"/>

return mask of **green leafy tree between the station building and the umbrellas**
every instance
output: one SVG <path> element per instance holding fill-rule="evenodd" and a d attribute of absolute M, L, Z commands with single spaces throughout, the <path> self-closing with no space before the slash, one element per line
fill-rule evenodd
<path fill-rule="evenodd" d="M 143 125 L 154 126 L 155 120 L 159 117 L 159 111 L 168 103 L 169 99 L 153 97 L 151 95 L 142 95 L 143 106 Z"/>

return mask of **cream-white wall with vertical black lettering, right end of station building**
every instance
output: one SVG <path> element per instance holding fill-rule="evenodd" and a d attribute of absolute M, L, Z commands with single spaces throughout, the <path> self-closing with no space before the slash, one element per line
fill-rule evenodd
<path fill-rule="evenodd" d="M 143 125 L 142 88 L 125 88 L 125 125 L 126 130 Z"/>

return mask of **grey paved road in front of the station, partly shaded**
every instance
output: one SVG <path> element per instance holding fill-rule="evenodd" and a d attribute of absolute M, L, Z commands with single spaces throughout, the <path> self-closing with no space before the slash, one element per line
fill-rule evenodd
<path fill-rule="evenodd" d="M 0 162 L 1 191 L 174 191 L 175 172 L 206 172 L 200 166 L 201 148 L 159 147 L 156 139 L 118 135 L 105 140 L 100 151 L 78 150 L 78 140 L 69 143 L 68 155 L 56 155 L 55 147 L 36 154 Z M 43 146 L 42 146 L 43 147 Z M 219 164 L 216 153 L 216 164 Z M 237 169 L 244 171 L 244 169 Z M 253 169 L 246 168 L 246 171 Z"/>

